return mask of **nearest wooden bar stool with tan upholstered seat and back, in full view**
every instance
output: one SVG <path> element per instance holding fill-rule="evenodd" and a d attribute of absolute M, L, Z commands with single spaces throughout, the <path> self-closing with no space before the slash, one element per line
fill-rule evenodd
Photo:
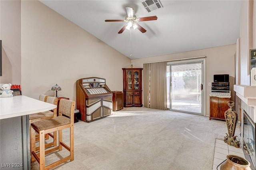
<path fill-rule="evenodd" d="M 32 162 L 34 159 L 36 159 L 36 161 L 39 163 L 40 170 L 48 170 L 68 160 L 74 160 L 74 110 L 75 101 L 60 99 L 59 116 L 51 119 L 44 119 L 31 124 L 31 157 Z M 67 117 L 63 115 L 66 115 Z M 70 128 L 70 146 L 62 142 L 62 130 L 65 128 Z M 58 146 L 45 150 L 44 135 L 56 131 L 58 131 L 59 137 Z M 36 153 L 36 132 L 39 134 L 39 153 Z M 70 155 L 48 166 L 45 166 L 45 155 L 56 150 L 61 151 L 62 146 L 70 152 Z"/>

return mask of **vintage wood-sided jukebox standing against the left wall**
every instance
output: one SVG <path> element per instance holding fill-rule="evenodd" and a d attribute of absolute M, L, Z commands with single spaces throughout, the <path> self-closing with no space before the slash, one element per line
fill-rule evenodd
<path fill-rule="evenodd" d="M 111 115 L 112 92 L 106 85 L 106 79 L 88 77 L 77 80 L 76 103 L 82 121 L 91 122 Z"/>

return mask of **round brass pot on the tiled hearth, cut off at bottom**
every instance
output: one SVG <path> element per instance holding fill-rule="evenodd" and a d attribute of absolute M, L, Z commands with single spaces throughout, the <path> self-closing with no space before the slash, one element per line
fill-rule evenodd
<path fill-rule="evenodd" d="M 223 164 L 221 164 L 220 170 L 252 170 L 252 169 L 250 168 L 250 162 L 248 162 L 248 160 L 236 155 L 227 155 L 227 160 L 225 160 Z"/>

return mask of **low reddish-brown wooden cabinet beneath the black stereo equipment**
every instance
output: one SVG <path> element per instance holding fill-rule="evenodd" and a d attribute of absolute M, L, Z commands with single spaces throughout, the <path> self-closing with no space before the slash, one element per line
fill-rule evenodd
<path fill-rule="evenodd" d="M 210 97 L 210 120 L 225 120 L 224 113 L 229 109 L 228 101 L 230 98 Z"/>

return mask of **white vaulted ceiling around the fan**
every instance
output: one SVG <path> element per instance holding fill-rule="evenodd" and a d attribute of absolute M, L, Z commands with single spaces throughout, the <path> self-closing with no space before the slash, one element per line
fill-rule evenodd
<path fill-rule="evenodd" d="M 241 0 L 160 0 L 163 8 L 147 12 L 141 0 L 40 0 L 68 20 L 120 53 L 138 59 L 236 43 L 240 30 Z M 125 22 L 125 7 L 147 31 L 118 31 Z"/>

